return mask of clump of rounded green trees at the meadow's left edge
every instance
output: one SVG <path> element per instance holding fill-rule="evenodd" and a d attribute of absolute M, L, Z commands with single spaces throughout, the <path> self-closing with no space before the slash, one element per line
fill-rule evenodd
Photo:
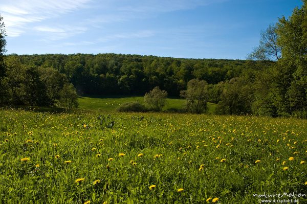
<path fill-rule="evenodd" d="M 30 106 L 77 105 L 75 87 L 67 76 L 52 68 L 24 65 L 16 56 L 5 58 L 6 75 L 3 86 L 6 98 L 3 103 Z"/>

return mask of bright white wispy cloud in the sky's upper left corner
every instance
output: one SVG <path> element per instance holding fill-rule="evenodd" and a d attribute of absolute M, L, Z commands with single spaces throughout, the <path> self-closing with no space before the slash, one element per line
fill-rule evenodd
<path fill-rule="evenodd" d="M 27 24 L 74 11 L 91 0 L 2 0 L 0 14 L 4 18 L 7 35 L 17 37 Z"/>

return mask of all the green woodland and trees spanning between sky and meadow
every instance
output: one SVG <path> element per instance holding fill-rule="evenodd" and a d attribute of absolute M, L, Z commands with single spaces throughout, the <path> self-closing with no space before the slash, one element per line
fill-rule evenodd
<path fill-rule="evenodd" d="M 1 104 L 57 106 L 78 95 L 144 95 L 159 86 L 179 97 L 192 79 L 207 82 L 217 114 L 307 117 L 306 1 L 260 34 L 247 60 L 123 54 L 5 55 Z M 2 22 L 2 33 L 4 24 Z M 76 104 L 75 104 L 76 105 Z"/>

